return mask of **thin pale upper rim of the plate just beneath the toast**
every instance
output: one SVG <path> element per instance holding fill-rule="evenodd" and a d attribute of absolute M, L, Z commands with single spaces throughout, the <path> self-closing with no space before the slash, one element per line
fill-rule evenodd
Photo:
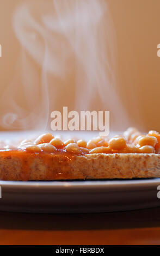
<path fill-rule="evenodd" d="M 160 185 L 160 178 L 134 179 L 134 180 L 73 180 L 73 181 L 3 181 L 0 186 L 5 190 L 85 190 L 89 188 L 122 188 L 144 190 L 152 189 Z"/>

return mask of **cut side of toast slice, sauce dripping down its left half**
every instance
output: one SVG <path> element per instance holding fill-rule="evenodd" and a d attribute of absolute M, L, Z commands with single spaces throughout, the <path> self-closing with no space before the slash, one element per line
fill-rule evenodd
<path fill-rule="evenodd" d="M 0 154 L 1 180 L 160 177 L 159 154 Z"/>

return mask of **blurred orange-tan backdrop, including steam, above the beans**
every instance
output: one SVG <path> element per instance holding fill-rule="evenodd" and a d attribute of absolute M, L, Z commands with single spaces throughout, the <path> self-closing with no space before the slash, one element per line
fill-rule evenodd
<path fill-rule="evenodd" d="M 110 111 L 110 130 L 160 131 L 159 0 L 5 0 L 0 129 L 48 129 L 51 112 Z"/>

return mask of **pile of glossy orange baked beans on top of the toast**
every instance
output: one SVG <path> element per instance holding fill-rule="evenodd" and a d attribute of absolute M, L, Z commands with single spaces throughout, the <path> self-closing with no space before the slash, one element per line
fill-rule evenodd
<path fill-rule="evenodd" d="M 156 131 L 149 131 L 147 134 L 140 133 L 136 128 L 128 128 L 123 135 L 116 135 L 112 138 L 97 137 L 84 141 L 83 139 L 68 139 L 62 141 L 54 138 L 51 133 L 40 135 L 35 140 L 22 141 L 18 147 L 30 153 L 56 153 L 66 151 L 74 154 L 94 153 L 156 153 L 160 154 L 160 134 Z"/>

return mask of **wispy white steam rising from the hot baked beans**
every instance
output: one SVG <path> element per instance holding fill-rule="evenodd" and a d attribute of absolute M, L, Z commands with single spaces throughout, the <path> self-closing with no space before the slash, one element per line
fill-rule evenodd
<path fill-rule="evenodd" d="M 3 127 L 45 130 L 51 112 L 68 106 L 76 111 L 109 110 L 112 127 L 126 128 L 106 2 L 27 0 L 17 7 L 13 26 L 21 53 L 1 99 Z"/>

